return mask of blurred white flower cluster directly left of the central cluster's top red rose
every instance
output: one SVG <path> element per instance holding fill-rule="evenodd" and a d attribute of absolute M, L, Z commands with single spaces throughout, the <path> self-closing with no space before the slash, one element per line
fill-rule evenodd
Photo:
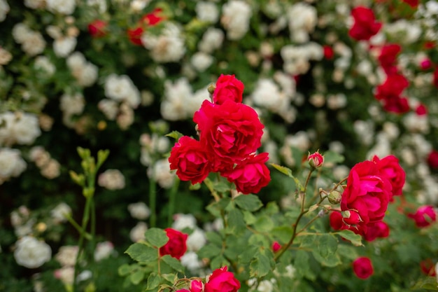
<path fill-rule="evenodd" d="M 185 120 L 199 109 L 204 99 L 208 97 L 206 88 L 192 92 L 192 86 L 187 78 L 179 78 L 175 83 L 164 83 L 164 100 L 160 112 L 165 120 Z"/>

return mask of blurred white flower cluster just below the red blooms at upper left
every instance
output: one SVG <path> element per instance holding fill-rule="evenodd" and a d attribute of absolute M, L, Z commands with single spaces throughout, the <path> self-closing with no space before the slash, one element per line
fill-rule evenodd
<path fill-rule="evenodd" d="M 172 22 L 167 22 L 158 36 L 144 32 L 141 43 L 150 50 L 150 56 L 158 63 L 178 62 L 185 54 L 181 28 Z"/>

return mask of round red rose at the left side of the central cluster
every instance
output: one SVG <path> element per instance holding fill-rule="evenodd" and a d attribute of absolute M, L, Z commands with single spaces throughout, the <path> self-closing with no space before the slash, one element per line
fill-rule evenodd
<path fill-rule="evenodd" d="M 170 169 L 176 169 L 181 181 L 202 183 L 210 173 L 209 155 L 202 144 L 188 136 L 178 139 L 170 151 Z"/>

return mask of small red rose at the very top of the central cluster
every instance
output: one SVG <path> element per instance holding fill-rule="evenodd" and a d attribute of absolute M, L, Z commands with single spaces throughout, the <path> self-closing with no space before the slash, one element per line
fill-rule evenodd
<path fill-rule="evenodd" d="M 233 102 L 242 102 L 243 88 L 243 83 L 235 78 L 234 75 L 221 74 L 218 81 L 216 81 L 213 102 L 215 104 L 223 104 L 227 99 Z"/>

